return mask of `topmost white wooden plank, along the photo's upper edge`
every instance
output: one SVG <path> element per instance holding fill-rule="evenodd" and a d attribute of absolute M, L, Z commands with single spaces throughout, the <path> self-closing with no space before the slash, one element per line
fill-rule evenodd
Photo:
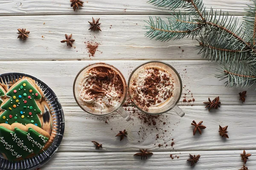
<path fill-rule="evenodd" d="M 5 0 L 0 4 L 1 15 L 35 14 L 167 14 L 168 9 L 157 8 L 147 3 L 148 0 L 89 0 L 84 7 L 73 11 L 69 0 Z M 229 11 L 230 14 L 244 14 L 249 0 L 203 0 L 207 10 Z"/>

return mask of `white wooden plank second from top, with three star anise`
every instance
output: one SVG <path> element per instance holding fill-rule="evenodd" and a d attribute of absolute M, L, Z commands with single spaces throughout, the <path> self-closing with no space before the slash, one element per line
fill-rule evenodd
<path fill-rule="evenodd" d="M 54 2 L 54 1 L 53 1 Z M 153 15 L 154 16 L 154 15 Z M 159 15 L 158 15 L 159 16 Z M 89 31 L 92 17 L 101 18 L 102 32 Z M 162 19 L 170 15 L 160 15 Z M 2 16 L 0 61 L 10 60 L 198 60 L 198 41 L 191 37 L 161 42 L 145 37 L 146 15 L 47 15 Z M 242 17 L 239 16 L 242 20 Z M 26 41 L 17 39 L 17 28 L 30 31 Z M 73 34 L 74 48 L 61 43 Z M 99 43 L 89 57 L 85 42 Z"/>

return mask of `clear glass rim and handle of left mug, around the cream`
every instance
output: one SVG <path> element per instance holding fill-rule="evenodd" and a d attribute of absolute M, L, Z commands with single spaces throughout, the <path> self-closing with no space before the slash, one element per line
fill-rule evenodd
<path fill-rule="evenodd" d="M 97 111 L 97 110 L 94 110 L 93 108 L 89 108 L 79 98 L 79 90 L 81 89 L 81 85 L 82 85 L 81 84 L 81 80 L 84 78 L 84 74 L 88 70 L 90 70 L 91 68 L 99 67 L 99 66 L 111 68 L 113 71 L 115 71 L 119 75 L 119 77 L 121 77 L 122 83 L 123 83 L 123 88 L 124 88 L 123 89 L 123 94 L 122 94 L 121 99 L 120 99 L 120 102 L 117 105 L 115 105 L 114 107 L 112 107 L 111 109 L 108 109 L 106 111 Z M 89 114 L 92 114 L 94 116 L 106 116 L 106 115 L 109 115 L 109 114 L 114 113 L 114 112 L 117 111 L 126 121 L 130 121 L 131 120 L 131 117 L 122 108 L 122 105 L 124 104 L 126 96 L 127 96 L 127 84 L 126 84 L 125 78 L 122 75 L 122 73 L 117 68 L 115 68 L 112 65 L 105 64 L 105 63 L 95 63 L 95 64 L 87 65 L 86 67 L 82 68 L 81 71 L 79 71 L 79 73 L 77 74 L 77 76 L 76 76 L 76 78 L 74 80 L 73 95 L 74 95 L 76 103 L 79 105 L 79 107 L 83 111 L 85 111 L 85 112 L 87 112 Z"/>

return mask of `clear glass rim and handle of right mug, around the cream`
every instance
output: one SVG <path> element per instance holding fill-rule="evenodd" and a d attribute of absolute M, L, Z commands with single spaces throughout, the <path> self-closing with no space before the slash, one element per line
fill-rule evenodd
<path fill-rule="evenodd" d="M 169 99 L 169 101 L 166 101 L 165 105 L 162 105 L 160 107 L 152 107 L 148 108 L 145 105 L 141 105 L 139 102 L 137 102 L 134 99 L 134 94 L 132 93 L 132 81 L 133 79 L 136 79 L 137 75 L 140 73 L 140 71 L 143 71 L 145 68 L 148 67 L 157 67 L 157 68 L 162 68 L 163 70 L 167 71 L 169 74 L 172 75 L 173 80 L 174 80 L 174 89 L 172 91 L 172 96 Z M 135 85 L 136 86 L 136 85 Z M 128 94 L 131 98 L 131 102 L 135 105 L 137 109 L 142 111 L 143 113 L 148 113 L 148 114 L 162 114 L 170 111 L 171 109 L 177 113 L 180 117 L 183 117 L 185 113 L 177 106 L 177 103 L 180 100 L 181 94 L 182 94 L 182 82 L 180 79 L 180 75 L 178 72 L 173 68 L 171 65 L 169 65 L 166 62 L 162 61 L 149 61 L 145 62 L 141 65 L 139 65 L 137 68 L 134 69 L 134 71 L 131 73 L 129 80 L 128 80 Z M 140 94 L 141 95 L 141 94 Z"/>

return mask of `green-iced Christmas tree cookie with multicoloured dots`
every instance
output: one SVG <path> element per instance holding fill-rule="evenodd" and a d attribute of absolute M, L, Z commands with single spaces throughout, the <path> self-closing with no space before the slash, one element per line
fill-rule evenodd
<path fill-rule="evenodd" d="M 0 123 L 42 127 L 42 96 L 31 79 L 20 79 L 9 88 L 6 96 L 7 99 L 1 104 Z"/>

